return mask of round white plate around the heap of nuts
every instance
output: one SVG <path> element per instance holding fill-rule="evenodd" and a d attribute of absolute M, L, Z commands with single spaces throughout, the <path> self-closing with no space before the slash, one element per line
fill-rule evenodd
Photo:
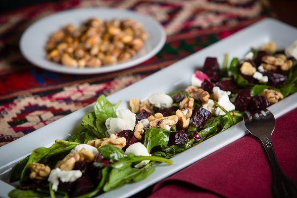
<path fill-rule="evenodd" d="M 149 38 L 145 42 L 144 48 L 132 59 L 115 65 L 82 69 L 71 68 L 49 61 L 45 50 L 49 36 L 69 23 L 79 26 L 91 17 L 98 17 L 102 20 L 131 18 L 143 24 Z M 163 27 L 149 16 L 119 9 L 80 8 L 52 14 L 35 22 L 23 33 L 20 40 L 20 49 L 25 58 L 43 69 L 68 74 L 97 74 L 125 69 L 142 63 L 155 55 L 164 46 L 165 40 L 166 34 Z"/>

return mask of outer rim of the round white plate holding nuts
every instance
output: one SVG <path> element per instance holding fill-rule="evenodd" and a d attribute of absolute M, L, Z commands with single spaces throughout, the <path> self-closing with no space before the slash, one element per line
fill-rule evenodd
<path fill-rule="evenodd" d="M 160 31 L 160 35 L 159 36 L 159 42 L 158 44 L 151 49 L 148 53 L 145 53 L 144 55 L 141 55 L 138 58 L 135 59 L 130 59 L 126 62 L 123 63 L 119 63 L 119 64 L 115 64 L 115 65 L 109 65 L 109 66 L 102 66 L 99 68 L 71 68 L 71 67 L 66 67 L 63 66 L 62 64 L 57 64 L 54 62 L 51 62 L 49 60 L 47 60 L 45 58 L 45 60 L 48 62 L 48 64 L 52 64 L 52 65 L 44 65 L 41 64 L 38 60 L 36 60 L 35 58 L 32 58 L 31 56 L 29 56 L 27 50 L 30 49 L 25 49 L 24 47 L 24 43 L 27 41 L 27 39 L 30 39 L 30 35 L 28 35 L 29 31 L 31 30 L 31 28 L 34 28 L 36 25 L 38 25 L 38 23 L 43 22 L 43 20 L 47 20 L 50 17 L 54 17 L 56 15 L 62 15 L 62 14 L 71 14 L 71 12 L 79 12 L 79 11 L 85 11 L 85 10 L 105 10 L 105 11 L 116 11 L 116 12 L 123 12 L 123 13 L 128 13 L 128 14 L 133 14 L 135 16 L 139 15 L 142 17 L 147 18 L 151 24 L 154 24 L 156 27 L 158 27 L 158 30 Z M 53 30 L 54 31 L 54 30 Z M 92 74 L 101 74 L 101 73 L 108 73 L 108 72 L 114 72 L 114 71 L 119 71 L 119 70 L 123 70 L 123 69 L 127 69 L 130 67 L 134 67 L 137 66 L 145 61 L 147 61 L 149 58 L 153 57 L 155 54 L 157 54 L 165 45 L 166 43 L 166 31 L 164 29 L 164 27 L 161 25 L 160 22 L 158 22 L 157 20 L 153 19 L 151 16 L 149 15 L 145 15 L 142 13 L 138 13 L 132 10 L 123 10 L 123 9 L 117 9 L 117 8 L 107 8 L 107 7 L 87 7 L 87 8 L 73 8 L 73 9 L 67 9 L 67 10 L 63 10 L 63 11 L 59 11 L 59 12 L 55 12 L 52 14 L 49 14 L 45 17 L 42 17 L 40 19 L 38 19 L 37 21 L 35 21 L 34 23 L 32 23 L 29 27 L 27 27 L 27 29 L 22 33 L 22 36 L 19 40 L 19 49 L 21 51 L 21 54 L 25 57 L 25 59 L 27 61 L 29 61 L 30 63 L 32 63 L 34 66 L 37 66 L 39 68 L 45 69 L 45 70 L 49 70 L 49 71 L 53 71 L 53 72 L 58 72 L 58 73 L 64 73 L 64 74 L 77 74 L 77 75 L 92 75 Z M 43 49 L 44 50 L 44 49 Z"/>

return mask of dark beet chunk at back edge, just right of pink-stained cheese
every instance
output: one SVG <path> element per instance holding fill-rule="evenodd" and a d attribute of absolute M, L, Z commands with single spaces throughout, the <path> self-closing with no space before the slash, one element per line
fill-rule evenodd
<path fill-rule="evenodd" d="M 219 80 L 220 66 L 215 57 L 207 57 L 203 65 L 203 72 L 209 77 L 213 82 Z"/>

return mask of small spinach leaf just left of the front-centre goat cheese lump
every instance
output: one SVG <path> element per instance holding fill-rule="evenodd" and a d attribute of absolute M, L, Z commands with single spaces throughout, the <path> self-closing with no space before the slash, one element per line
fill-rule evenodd
<path fill-rule="evenodd" d="M 126 156 L 123 150 L 112 145 L 104 145 L 98 148 L 98 151 L 105 159 L 112 159 L 113 161 L 118 161 Z"/>

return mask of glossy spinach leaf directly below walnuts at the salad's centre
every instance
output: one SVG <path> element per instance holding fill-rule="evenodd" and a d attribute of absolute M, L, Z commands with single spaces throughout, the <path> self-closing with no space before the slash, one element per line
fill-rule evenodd
<path fill-rule="evenodd" d="M 144 145 L 148 149 L 148 152 L 156 146 L 166 146 L 169 141 L 169 133 L 165 129 L 150 128 L 145 134 Z"/>

